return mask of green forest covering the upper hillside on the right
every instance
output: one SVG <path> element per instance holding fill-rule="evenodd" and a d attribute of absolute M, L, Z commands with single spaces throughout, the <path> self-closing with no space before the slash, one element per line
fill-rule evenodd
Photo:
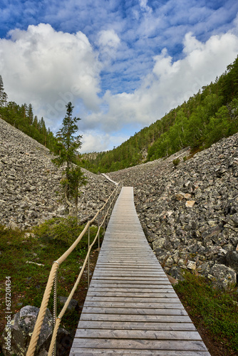
<path fill-rule="evenodd" d="M 112 172 L 167 157 L 184 147 L 203 150 L 238 130 L 238 58 L 219 78 L 144 127 L 114 150 L 83 155 L 82 167 Z"/>

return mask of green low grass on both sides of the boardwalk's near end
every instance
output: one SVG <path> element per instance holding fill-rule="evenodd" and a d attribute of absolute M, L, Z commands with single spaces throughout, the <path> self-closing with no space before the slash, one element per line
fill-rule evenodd
<path fill-rule="evenodd" d="M 11 276 L 11 311 L 16 313 L 26 305 L 40 307 L 43 292 L 53 261 L 60 257 L 71 242 L 78 237 L 84 226 L 78 226 L 74 219 L 52 219 L 36 227 L 26 236 L 26 231 L 4 229 L 0 226 L 0 333 L 4 330 L 6 276 Z M 73 232 L 69 232 L 73 231 Z M 90 228 L 91 241 L 96 227 Z M 63 262 L 58 273 L 58 295 L 68 296 L 78 273 L 81 271 L 88 234 L 79 246 Z M 97 244 L 95 244 L 95 248 Z M 95 255 L 94 255 L 95 256 Z M 93 260 L 93 258 L 92 258 Z M 42 263 L 37 266 L 26 261 Z M 80 282 L 73 298 L 83 303 L 83 293 L 87 290 L 87 273 Z M 214 287 L 205 278 L 185 274 L 175 290 L 198 330 L 207 330 L 212 340 L 227 348 L 227 353 L 214 352 L 211 355 L 238 355 L 238 293 L 237 289 L 222 291 Z M 48 308 L 52 312 L 51 296 Z M 61 310 L 58 305 L 58 313 Z M 78 323 L 79 314 L 66 312 L 61 327 L 73 331 Z M 202 335 L 204 337 L 204 335 Z M 223 349 L 222 349 L 223 350 Z M 0 355 L 1 352 L 0 352 Z"/>

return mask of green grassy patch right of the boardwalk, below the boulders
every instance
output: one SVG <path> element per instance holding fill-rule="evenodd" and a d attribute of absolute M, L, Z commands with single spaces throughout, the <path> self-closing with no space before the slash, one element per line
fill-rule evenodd
<path fill-rule="evenodd" d="M 175 290 L 197 327 L 209 330 L 217 342 L 238 352 L 237 288 L 217 290 L 205 278 L 185 273 Z"/>

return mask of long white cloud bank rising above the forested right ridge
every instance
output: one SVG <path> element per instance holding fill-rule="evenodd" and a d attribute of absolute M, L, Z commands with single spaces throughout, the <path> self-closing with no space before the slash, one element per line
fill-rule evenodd
<path fill-rule="evenodd" d="M 184 40 L 185 57 L 172 62 L 166 49 L 154 57 L 154 67 L 133 93 L 112 95 L 103 100 L 107 110 L 90 115 L 90 125 L 99 125 L 105 132 L 114 132 L 130 123 L 150 125 L 184 100 L 197 93 L 226 70 L 238 52 L 238 37 L 233 33 L 212 36 L 206 43 L 191 33 Z"/>

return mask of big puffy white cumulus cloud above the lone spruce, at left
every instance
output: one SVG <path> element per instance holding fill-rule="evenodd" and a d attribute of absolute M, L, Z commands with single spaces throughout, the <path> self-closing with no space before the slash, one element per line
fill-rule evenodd
<path fill-rule="evenodd" d="M 57 118 L 68 101 L 98 110 L 100 63 L 84 33 L 55 31 L 40 23 L 0 40 L 0 73 L 10 100 L 29 102 Z"/>

